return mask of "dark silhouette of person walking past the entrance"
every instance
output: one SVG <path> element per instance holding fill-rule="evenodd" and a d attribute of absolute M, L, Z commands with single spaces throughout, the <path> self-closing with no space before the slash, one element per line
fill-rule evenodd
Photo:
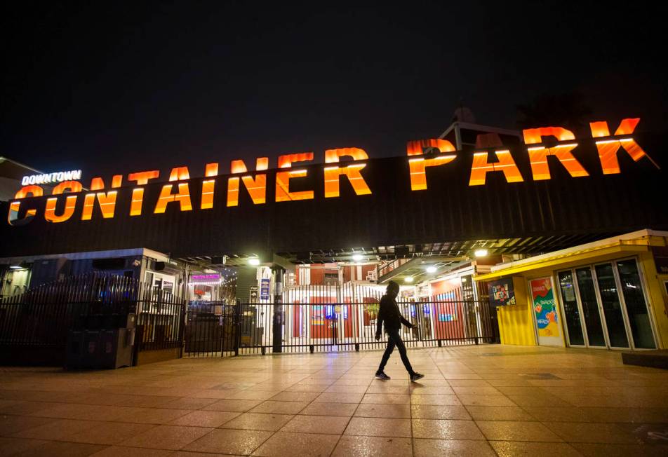
<path fill-rule="evenodd" d="M 406 345 L 403 344 L 401 340 L 401 335 L 399 330 L 401 329 L 401 324 L 406 325 L 409 329 L 413 328 L 413 324 L 408 322 L 401 311 L 399 311 L 399 305 L 396 304 L 396 296 L 399 294 L 399 284 L 394 281 L 389 281 L 387 283 L 387 289 L 385 295 L 380 299 L 380 309 L 378 310 L 378 322 L 376 323 L 376 341 L 380 340 L 380 332 L 382 329 L 382 324 L 385 322 L 385 333 L 387 333 L 387 348 L 385 353 L 382 355 L 382 360 L 380 360 L 380 366 L 378 371 L 376 371 L 375 377 L 378 379 L 389 379 L 389 376 L 385 374 L 385 365 L 389 356 L 392 355 L 394 346 L 399 349 L 399 355 L 401 355 L 401 362 L 403 366 L 406 367 L 408 371 L 408 376 L 410 376 L 410 381 L 415 382 L 420 378 L 424 378 L 424 374 L 417 373 L 413 371 L 413 367 L 410 366 L 410 361 L 408 360 L 408 355 L 406 355 Z"/>

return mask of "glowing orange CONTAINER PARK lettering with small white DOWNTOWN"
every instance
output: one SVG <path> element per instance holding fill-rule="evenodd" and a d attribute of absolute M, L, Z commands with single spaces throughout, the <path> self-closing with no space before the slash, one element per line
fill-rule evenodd
<path fill-rule="evenodd" d="M 623 119 L 613 135 L 610 134 L 607 122 L 590 123 L 589 128 L 596 144 L 603 175 L 620 173 L 619 156 L 623 154 L 622 151 L 636 162 L 646 158 L 659 168 L 632 137 L 639 121 L 639 118 Z M 577 150 L 578 142 L 573 132 L 566 128 L 529 128 L 523 130 L 523 139 L 530 173 L 522 174 L 516 164 L 518 157 L 514 157 L 509 149 L 502 146 L 474 149 L 468 185 L 484 186 L 490 174 L 502 176 L 507 183 L 546 181 L 552 179 L 551 167 L 561 167 L 573 178 L 589 177 L 591 172 L 598 172 L 598 170 L 586 170 L 573 154 L 573 151 Z M 406 165 L 410 183 L 407 185 L 412 191 L 426 191 L 429 188 L 428 168 L 452 166 L 448 164 L 463 160 L 465 154 L 469 153 L 456 151 L 455 146 L 446 139 L 420 139 L 408 142 Z M 517 149 L 514 149 L 514 154 L 517 154 Z M 552 157 L 550 159 L 552 162 L 548 161 L 549 157 Z M 31 205 L 26 203 L 27 207 L 20 212 L 22 199 L 42 197 L 44 188 L 39 184 L 59 181 L 51 191 L 52 196 L 47 198 L 42 214 L 46 221 L 54 224 L 72 218 L 82 221 L 100 219 L 100 216 L 94 217 L 94 213 L 101 214 L 101 219 L 112 219 L 119 211 L 126 212 L 131 217 L 140 217 L 145 214 L 164 214 L 168 207 L 178 207 L 180 212 L 211 210 L 214 205 L 237 207 L 242 192 L 250 198 L 253 205 L 264 205 L 267 203 L 267 186 L 270 185 L 275 186 L 273 194 L 276 203 L 313 200 L 316 198 L 316 192 L 314 189 L 308 189 L 308 183 L 312 182 L 312 179 L 306 178 L 309 174 L 312 176 L 317 172 L 314 167 L 305 168 L 305 164 L 312 161 L 314 161 L 313 152 L 286 154 L 279 156 L 277 168 L 269 172 L 268 157 L 257 158 L 255 170 L 249 170 L 246 162 L 239 159 L 230 163 L 229 175 L 219 174 L 218 163 L 206 163 L 203 168 L 204 178 L 201 181 L 191 181 L 190 170 L 187 167 L 175 167 L 169 173 L 166 184 L 161 186 L 159 196 L 153 197 L 152 201 L 145 201 L 145 186 L 159 179 L 159 170 L 131 172 L 126 179 L 128 185 L 132 186 L 132 196 L 128 205 L 124 204 L 122 208 L 116 207 L 116 197 L 119 192 L 116 189 L 123 185 L 125 175 L 114 175 L 107 182 L 102 177 L 94 177 L 91 179 L 90 191 L 86 191 L 84 195 L 81 195 L 83 186 L 79 182 L 81 170 L 24 177 L 22 181 L 24 186 L 10 203 L 8 223 L 20 226 L 32 221 L 38 215 L 38 211 L 36 207 L 30 207 Z M 364 176 L 368 165 L 368 154 L 363 149 L 355 147 L 328 149 L 324 153 L 324 163 L 321 175 L 318 177 L 323 182 L 323 193 L 318 198 L 340 198 L 342 182 L 347 182 L 343 185 L 349 186 L 356 196 L 371 195 L 373 190 Z M 273 182 L 267 179 L 269 175 L 275 177 Z M 225 184 L 227 184 L 225 200 L 217 202 L 216 186 Z M 83 205 L 79 200 L 83 200 Z M 127 200 L 121 201 L 127 203 Z M 80 212 L 77 212 L 78 205 L 82 207 Z M 95 207 L 98 208 L 98 212 L 95 212 Z"/>

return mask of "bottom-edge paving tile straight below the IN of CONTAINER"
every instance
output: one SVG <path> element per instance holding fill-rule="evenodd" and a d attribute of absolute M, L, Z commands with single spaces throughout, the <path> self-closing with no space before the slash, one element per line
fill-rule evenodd
<path fill-rule="evenodd" d="M 204 435 L 195 442 L 188 444 L 183 450 L 248 456 L 272 434 L 273 432 L 258 430 L 217 428 L 208 435 Z"/>

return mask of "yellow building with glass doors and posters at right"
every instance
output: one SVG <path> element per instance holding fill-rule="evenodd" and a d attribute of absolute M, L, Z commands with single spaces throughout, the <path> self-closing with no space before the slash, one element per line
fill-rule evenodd
<path fill-rule="evenodd" d="M 641 230 L 494 266 L 503 344 L 668 348 L 668 232 Z M 506 292 L 507 293 L 507 292 Z"/>

